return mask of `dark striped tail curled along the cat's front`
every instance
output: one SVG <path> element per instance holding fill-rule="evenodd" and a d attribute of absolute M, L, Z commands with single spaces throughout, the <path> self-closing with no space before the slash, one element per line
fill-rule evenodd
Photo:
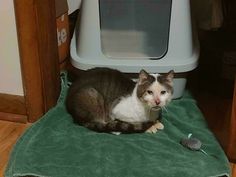
<path fill-rule="evenodd" d="M 120 120 L 114 120 L 107 123 L 100 122 L 87 122 L 83 126 L 96 132 L 121 132 L 121 133 L 143 133 L 154 125 L 154 121 L 139 122 L 139 123 L 128 123 Z"/>

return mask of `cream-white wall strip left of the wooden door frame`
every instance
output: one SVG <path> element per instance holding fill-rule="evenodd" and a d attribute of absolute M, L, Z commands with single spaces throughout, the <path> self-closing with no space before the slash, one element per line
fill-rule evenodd
<path fill-rule="evenodd" d="M 24 95 L 13 0 L 0 1 L 0 93 Z"/>

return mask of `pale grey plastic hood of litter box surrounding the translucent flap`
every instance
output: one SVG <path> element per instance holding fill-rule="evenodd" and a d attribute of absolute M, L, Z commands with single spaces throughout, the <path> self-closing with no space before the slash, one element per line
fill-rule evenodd
<path fill-rule="evenodd" d="M 70 50 L 71 63 L 76 68 L 87 70 L 93 67 L 111 67 L 127 73 L 137 73 L 140 69 L 165 73 L 171 69 L 175 72 L 187 72 L 197 66 L 199 47 L 197 38 L 192 33 L 189 0 L 172 0 L 168 51 L 159 60 L 105 56 L 101 47 L 98 0 L 83 1 L 79 22 Z"/>

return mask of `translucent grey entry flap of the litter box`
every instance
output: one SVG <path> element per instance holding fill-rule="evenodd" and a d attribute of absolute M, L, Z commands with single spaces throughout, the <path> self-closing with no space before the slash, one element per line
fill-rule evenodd
<path fill-rule="evenodd" d="M 171 4 L 171 0 L 99 0 L 103 54 L 120 59 L 164 57 Z"/>

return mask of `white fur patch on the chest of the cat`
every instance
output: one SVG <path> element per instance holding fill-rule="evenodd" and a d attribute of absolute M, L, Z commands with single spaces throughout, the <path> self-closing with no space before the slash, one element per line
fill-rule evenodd
<path fill-rule="evenodd" d="M 147 121 L 144 105 L 139 101 L 135 94 L 124 97 L 112 109 L 111 118 L 125 122 L 143 122 Z"/>

